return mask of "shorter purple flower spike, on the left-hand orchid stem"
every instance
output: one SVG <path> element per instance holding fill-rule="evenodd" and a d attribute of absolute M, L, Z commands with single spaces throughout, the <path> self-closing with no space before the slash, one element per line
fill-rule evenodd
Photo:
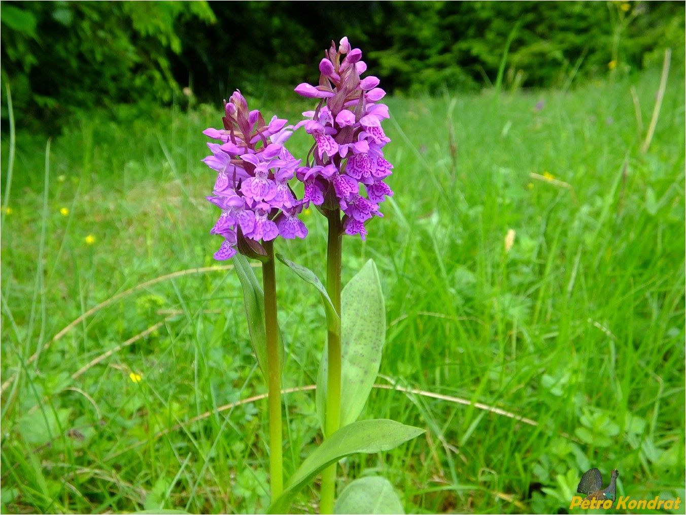
<path fill-rule="evenodd" d="M 228 260 L 239 249 L 259 252 L 260 240 L 305 238 L 307 228 L 298 219 L 303 201 L 296 199 L 288 181 L 300 165 L 283 146 L 293 127 L 274 116 L 265 123 L 257 110 L 248 111 L 239 91 L 226 102 L 224 128 L 209 128 L 204 135 L 222 141 L 209 143 L 212 155 L 204 163 L 217 172 L 208 201 L 222 214 L 210 231 L 224 237 L 216 260 Z"/>

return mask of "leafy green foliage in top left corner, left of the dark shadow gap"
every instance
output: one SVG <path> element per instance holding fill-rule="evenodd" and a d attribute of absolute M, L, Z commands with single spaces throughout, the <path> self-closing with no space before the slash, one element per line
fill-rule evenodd
<path fill-rule="evenodd" d="M 178 27 L 189 19 L 214 15 L 206 2 L 3 2 L 2 80 L 16 113 L 45 119 L 145 98 L 168 102 L 178 87 L 170 58 L 181 52 Z"/>

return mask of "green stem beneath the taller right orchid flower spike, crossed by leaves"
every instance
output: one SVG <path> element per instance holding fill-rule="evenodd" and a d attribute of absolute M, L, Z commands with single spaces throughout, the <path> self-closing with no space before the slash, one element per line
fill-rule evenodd
<path fill-rule="evenodd" d="M 333 308 L 341 314 L 341 249 L 342 226 L 340 210 L 329 211 L 329 243 L 327 245 L 327 293 L 331 297 Z M 328 334 L 328 376 L 327 376 L 327 410 L 324 421 L 324 437 L 328 438 L 340 426 L 341 411 L 341 334 L 340 325 L 337 331 L 329 330 Z M 333 464 L 322 472 L 322 489 L 320 513 L 333 513 L 333 499 L 336 492 L 336 466 Z"/>

